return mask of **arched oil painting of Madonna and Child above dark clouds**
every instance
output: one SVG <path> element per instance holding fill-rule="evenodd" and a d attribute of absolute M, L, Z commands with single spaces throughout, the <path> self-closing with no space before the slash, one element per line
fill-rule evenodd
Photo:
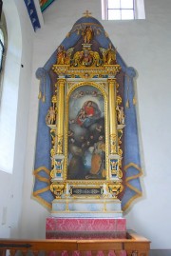
<path fill-rule="evenodd" d="M 67 179 L 104 180 L 104 95 L 93 86 L 78 87 L 68 100 Z"/>

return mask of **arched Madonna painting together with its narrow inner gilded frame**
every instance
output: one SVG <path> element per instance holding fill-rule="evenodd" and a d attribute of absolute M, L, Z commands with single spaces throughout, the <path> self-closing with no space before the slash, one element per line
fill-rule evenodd
<path fill-rule="evenodd" d="M 70 184 L 108 180 L 108 100 L 98 82 L 66 89 L 65 169 Z"/>

